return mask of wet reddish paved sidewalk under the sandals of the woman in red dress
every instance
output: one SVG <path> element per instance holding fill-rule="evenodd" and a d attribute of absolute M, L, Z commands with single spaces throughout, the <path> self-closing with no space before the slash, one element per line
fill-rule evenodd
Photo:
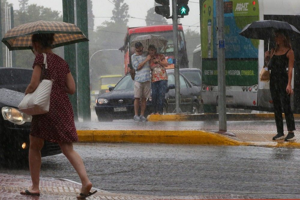
<path fill-rule="evenodd" d="M 44 178 L 40 180 L 41 196 L 21 195 L 21 190 L 26 190 L 31 185 L 30 176 L 0 174 L 0 199 L 22 199 L 22 200 L 75 200 L 80 192 L 81 185 L 79 183 L 56 178 Z M 89 200 L 147 200 L 147 199 L 263 199 L 251 196 L 222 194 L 222 195 L 201 195 L 199 196 L 143 196 L 135 194 L 119 194 L 110 193 L 97 188 L 97 193 L 88 197 Z"/>

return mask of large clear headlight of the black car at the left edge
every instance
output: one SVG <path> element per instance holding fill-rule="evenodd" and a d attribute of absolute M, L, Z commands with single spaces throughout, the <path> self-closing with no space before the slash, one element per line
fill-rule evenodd
<path fill-rule="evenodd" d="M 19 111 L 16 108 L 5 106 L 1 109 L 2 116 L 5 120 L 8 120 L 14 124 L 24 124 L 25 122 L 31 122 L 32 116 L 27 115 L 24 112 Z"/>

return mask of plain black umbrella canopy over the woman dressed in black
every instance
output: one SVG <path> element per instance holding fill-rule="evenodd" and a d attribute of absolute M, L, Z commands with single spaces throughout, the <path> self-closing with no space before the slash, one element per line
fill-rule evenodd
<path fill-rule="evenodd" d="M 300 31 L 298 31 L 295 26 L 290 25 L 287 22 L 275 20 L 254 21 L 251 24 L 246 25 L 238 34 L 246 38 L 268 40 L 273 37 L 272 30 L 286 31 L 290 36 L 300 34 Z"/>

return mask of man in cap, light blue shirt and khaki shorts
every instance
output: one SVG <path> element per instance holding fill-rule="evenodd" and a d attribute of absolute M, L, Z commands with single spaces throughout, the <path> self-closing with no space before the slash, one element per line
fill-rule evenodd
<path fill-rule="evenodd" d="M 144 116 L 146 100 L 151 97 L 150 55 L 143 52 L 143 44 L 135 43 L 135 53 L 131 56 L 134 77 L 134 121 L 146 121 Z M 138 115 L 141 100 L 141 115 Z"/>

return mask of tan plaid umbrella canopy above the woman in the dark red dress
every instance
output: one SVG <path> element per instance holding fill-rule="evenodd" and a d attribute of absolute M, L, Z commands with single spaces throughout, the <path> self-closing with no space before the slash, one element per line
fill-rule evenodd
<path fill-rule="evenodd" d="M 54 33 L 52 48 L 88 41 L 75 24 L 48 21 L 37 21 L 16 26 L 7 31 L 1 41 L 10 51 L 32 49 L 31 37 L 38 33 Z"/>

